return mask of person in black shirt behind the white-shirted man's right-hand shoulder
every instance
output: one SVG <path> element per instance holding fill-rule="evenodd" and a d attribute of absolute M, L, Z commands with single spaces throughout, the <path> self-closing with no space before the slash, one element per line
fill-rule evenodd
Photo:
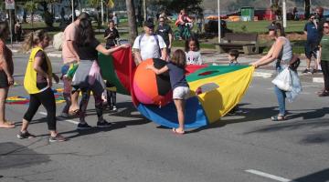
<path fill-rule="evenodd" d="M 167 47 L 167 56 L 170 56 L 170 50 L 173 43 L 173 30 L 170 25 L 165 24 L 165 19 L 163 16 L 159 18 L 159 25 L 155 31 L 157 35 L 161 35 L 164 38 L 164 43 Z"/>

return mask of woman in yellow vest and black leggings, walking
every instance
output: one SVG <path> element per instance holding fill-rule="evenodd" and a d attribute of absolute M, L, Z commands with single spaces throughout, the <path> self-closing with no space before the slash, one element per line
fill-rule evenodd
<path fill-rule="evenodd" d="M 27 127 L 33 116 L 36 115 L 40 105 L 47 110 L 47 123 L 50 133 L 49 142 L 65 141 L 66 138 L 58 134 L 56 129 L 56 103 L 51 89 L 52 78 L 58 82 L 58 76 L 52 73 L 50 60 L 44 51 L 49 45 L 49 36 L 45 30 L 37 30 L 27 35 L 23 51 L 31 50 L 27 63 L 27 71 L 24 76 L 24 87 L 30 96 L 30 102 L 23 123 L 17 137 L 20 139 L 35 137 L 28 133 Z"/>

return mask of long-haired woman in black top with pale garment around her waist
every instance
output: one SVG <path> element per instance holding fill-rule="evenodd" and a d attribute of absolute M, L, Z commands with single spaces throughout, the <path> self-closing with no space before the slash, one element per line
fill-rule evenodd
<path fill-rule="evenodd" d="M 80 101 L 80 124 L 78 129 L 88 129 L 90 126 L 85 121 L 86 109 L 90 98 L 90 91 L 92 91 L 95 98 L 95 108 L 98 116 L 97 126 L 106 127 L 111 126 L 102 117 L 102 100 L 101 94 L 104 91 L 104 82 L 100 73 L 100 66 L 98 66 L 98 52 L 104 55 L 111 55 L 112 52 L 119 50 L 129 45 L 120 45 L 111 49 L 106 49 L 95 38 L 90 20 L 81 19 L 78 27 L 77 49 L 80 56 L 80 65 L 73 76 L 72 86 L 78 88 L 82 92 Z"/>

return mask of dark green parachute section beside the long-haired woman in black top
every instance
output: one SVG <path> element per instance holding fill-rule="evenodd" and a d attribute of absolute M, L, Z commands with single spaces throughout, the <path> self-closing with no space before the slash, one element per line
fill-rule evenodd
<path fill-rule="evenodd" d="M 122 86 L 118 76 L 115 73 L 112 56 L 105 56 L 99 53 L 98 57 L 99 65 L 101 67 L 101 76 L 112 85 L 116 86 L 117 93 L 130 95 L 130 92 L 126 90 L 124 86 Z"/>

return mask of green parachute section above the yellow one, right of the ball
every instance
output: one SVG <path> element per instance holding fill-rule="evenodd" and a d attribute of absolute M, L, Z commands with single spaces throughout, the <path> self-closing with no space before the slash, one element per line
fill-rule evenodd
<path fill-rule="evenodd" d="M 195 73 L 186 76 L 187 82 L 193 82 L 198 79 L 204 79 L 212 76 L 219 76 L 222 74 L 227 74 L 229 72 L 237 71 L 239 69 L 246 68 L 248 66 L 207 66 L 202 69 L 197 70 Z M 199 76 L 199 74 L 210 73 L 209 75 Z"/>

